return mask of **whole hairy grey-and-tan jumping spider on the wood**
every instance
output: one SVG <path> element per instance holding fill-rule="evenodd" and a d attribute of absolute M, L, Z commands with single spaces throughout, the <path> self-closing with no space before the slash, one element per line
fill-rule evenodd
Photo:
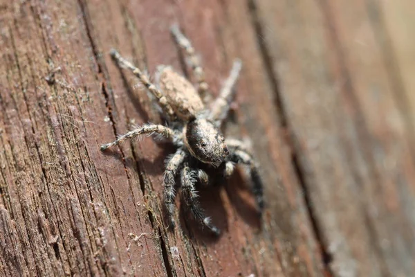
<path fill-rule="evenodd" d="M 111 56 L 118 66 L 131 70 L 150 95 L 156 98 L 170 127 L 143 125 L 118 136 L 118 139 L 112 143 L 102 145 L 101 150 L 104 151 L 143 134 L 158 134 L 169 139 L 177 148 L 176 152 L 167 159 L 163 180 L 163 195 L 169 225 L 174 229 L 176 188 L 181 188 L 182 201 L 194 219 L 212 233 L 219 235 L 221 231 L 212 224 L 210 217 L 205 215 L 200 206 L 196 184 L 209 186 L 214 183 L 213 180 L 230 177 L 234 172 L 235 164 L 244 164 L 250 174 L 252 193 L 255 195 L 259 213 L 264 208 L 263 185 L 258 166 L 246 143 L 237 139 L 225 139 L 220 131 L 230 109 L 230 102 L 234 96 L 233 87 L 237 82 L 242 63 L 240 60 L 234 61 L 219 96 L 210 100 L 204 71 L 190 40 L 176 25 L 172 26 L 171 32 L 178 46 L 183 48 L 187 55 L 198 83 L 197 89 L 190 81 L 176 73 L 171 66 L 163 65 L 157 68 L 157 85 L 153 84 L 146 74 L 125 60 L 118 51 L 112 49 Z"/>

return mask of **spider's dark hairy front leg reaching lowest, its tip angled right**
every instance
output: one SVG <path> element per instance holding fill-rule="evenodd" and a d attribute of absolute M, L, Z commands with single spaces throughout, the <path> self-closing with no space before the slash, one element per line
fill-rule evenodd
<path fill-rule="evenodd" d="M 220 235 L 221 230 L 219 230 L 216 226 L 214 226 L 210 222 L 210 217 L 207 217 L 199 204 L 198 195 L 196 194 L 196 190 L 194 188 L 194 184 L 196 180 L 194 179 L 195 172 L 189 168 L 187 164 L 183 167 L 181 172 L 181 185 L 182 185 L 182 197 L 185 202 L 185 205 L 190 212 L 192 213 L 194 219 L 206 226 L 212 233 L 215 235 Z"/>

